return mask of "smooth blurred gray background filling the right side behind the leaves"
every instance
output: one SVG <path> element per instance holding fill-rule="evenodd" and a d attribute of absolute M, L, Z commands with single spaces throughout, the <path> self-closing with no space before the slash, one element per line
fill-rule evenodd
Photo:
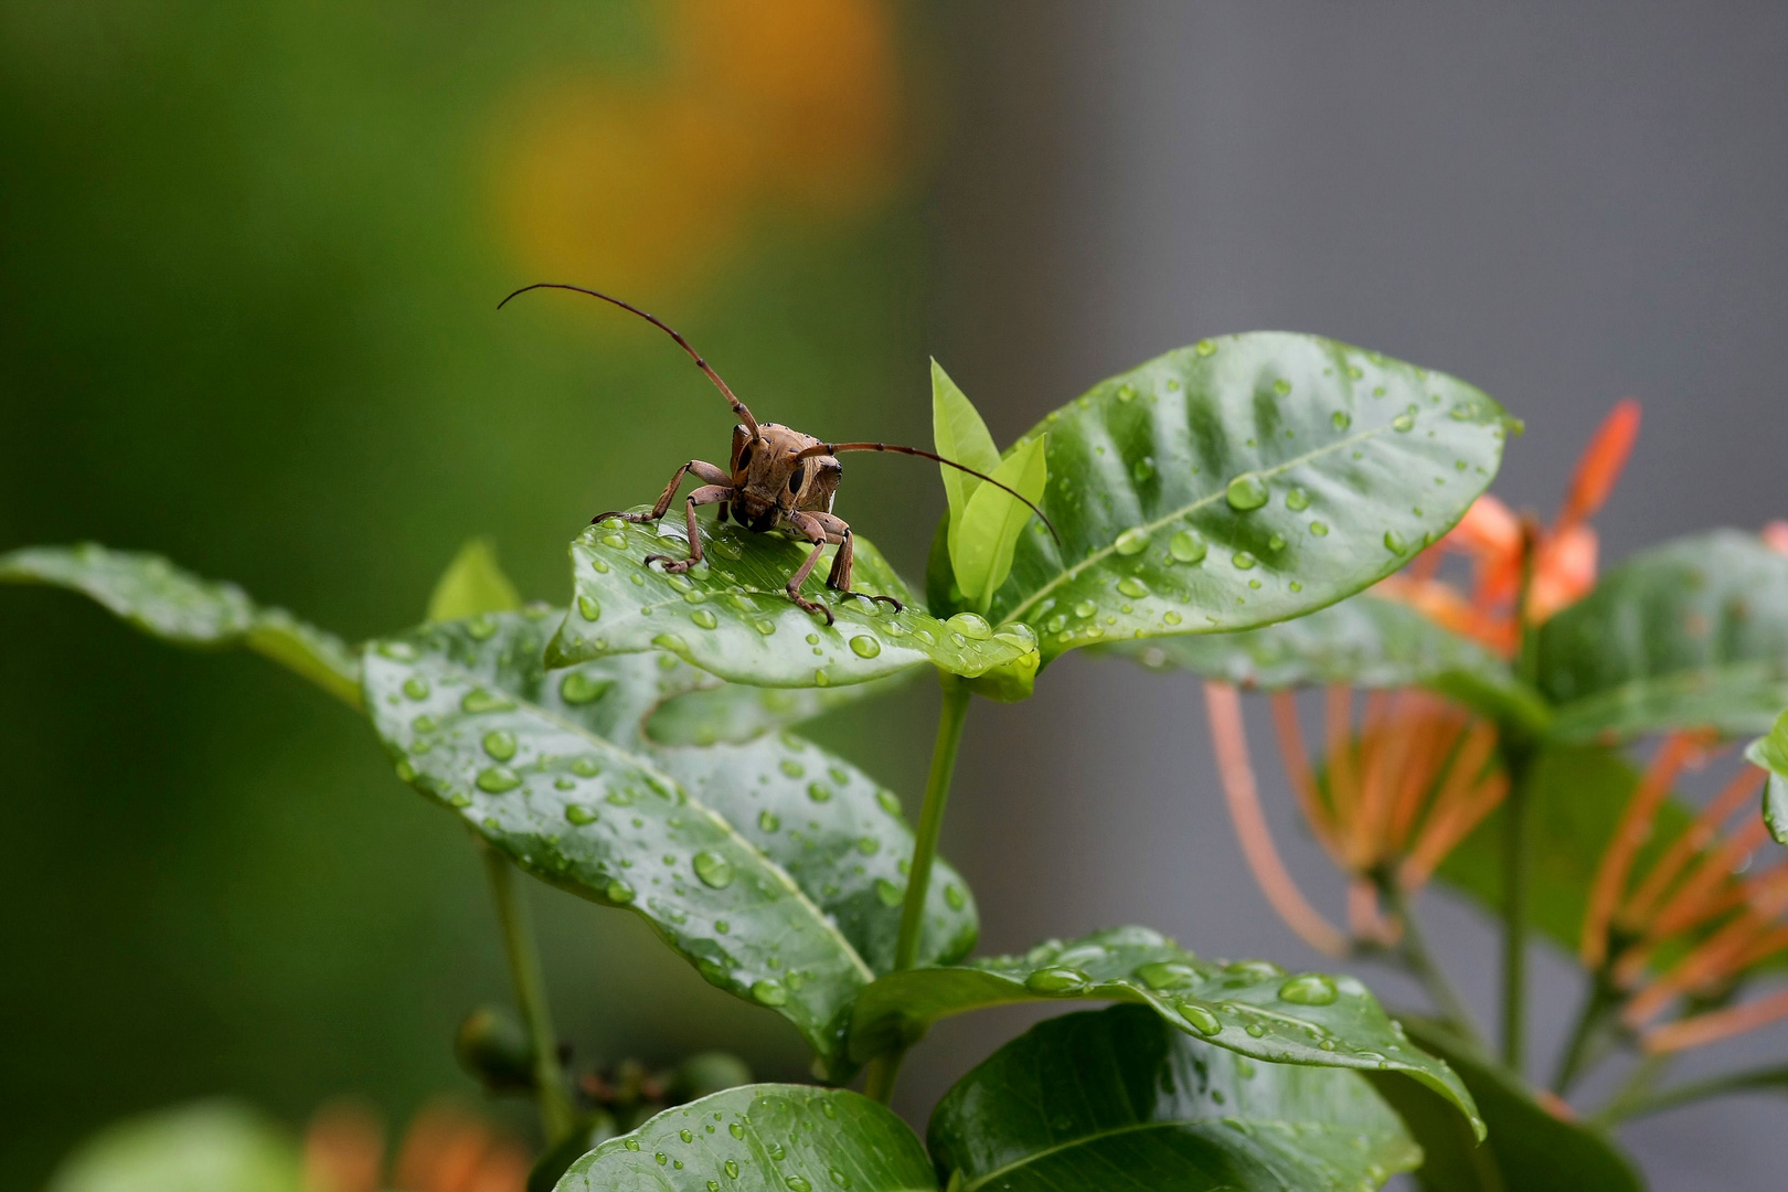
<path fill-rule="evenodd" d="M 1498 397 L 1527 436 L 1495 490 L 1548 516 L 1597 422 L 1638 397 L 1643 432 L 1597 522 L 1604 565 L 1788 515 L 1788 7 L 1025 11 L 955 21 L 957 136 L 933 207 L 937 350 L 999 441 L 1169 347 L 1296 329 Z M 1194 681 L 1069 656 L 1037 692 L 976 706 L 953 797 L 948 844 L 985 949 L 1144 922 L 1205 954 L 1321 961 L 1236 852 Z M 1253 727 L 1280 849 L 1339 920 Z M 1491 1020 L 1497 936 L 1445 897 L 1423 910 Z M 1577 983 L 1547 956 L 1534 988 L 1531 1053 L 1550 1065 Z M 939 1028 L 907 1104 L 1008 1024 Z M 1683 1067 L 1784 1047 L 1777 1029 Z M 1715 1101 L 1624 1140 L 1656 1188 L 1779 1188 L 1783 1113 Z"/>

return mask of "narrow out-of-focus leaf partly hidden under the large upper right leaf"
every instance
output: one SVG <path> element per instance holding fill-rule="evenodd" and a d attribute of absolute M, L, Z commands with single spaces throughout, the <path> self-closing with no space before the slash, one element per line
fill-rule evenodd
<path fill-rule="evenodd" d="M 1178 667 L 1248 690 L 1421 686 L 1497 720 L 1543 726 L 1547 708 L 1509 665 L 1400 600 L 1361 593 L 1309 617 L 1244 633 L 1114 647 L 1144 667 Z"/>

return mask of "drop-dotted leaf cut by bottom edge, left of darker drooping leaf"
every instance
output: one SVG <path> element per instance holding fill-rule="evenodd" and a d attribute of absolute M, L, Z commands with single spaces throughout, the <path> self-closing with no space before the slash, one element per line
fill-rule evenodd
<path fill-rule="evenodd" d="M 935 1192 L 887 1106 L 808 1085 L 746 1085 L 665 1110 L 570 1165 L 560 1192 Z"/>

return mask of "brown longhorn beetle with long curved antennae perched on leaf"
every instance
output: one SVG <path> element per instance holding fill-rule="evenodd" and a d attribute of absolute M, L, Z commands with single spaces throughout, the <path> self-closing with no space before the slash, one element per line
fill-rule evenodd
<path fill-rule="evenodd" d="M 851 527 L 844 518 L 831 511 L 831 500 L 839 495 L 839 479 L 844 475 L 844 465 L 839 463 L 839 456 L 849 450 L 881 450 L 896 452 L 901 456 L 919 456 L 921 459 L 933 459 L 948 468 L 957 468 L 958 472 L 967 472 L 994 488 L 1003 488 L 1012 493 L 1032 511 L 1042 518 L 1042 524 L 1050 527 L 1050 536 L 1060 543 L 1060 534 L 1055 533 L 1055 525 L 1033 502 L 1026 500 L 1021 493 L 1007 488 L 994 477 L 976 472 L 966 465 L 953 459 L 944 459 L 942 456 L 933 456 L 928 450 L 919 450 L 917 447 L 899 447 L 896 443 L 824 443 L 812 434 L 801 434 L 790 427 L 776 425 L 774 422 L 758 424 L 746 409 L 746 404 L 733 397 L 733 391 L 726 388 L 721 381 L 721 374 L 708 366 L 708 361 L 701 357 L 696 348 L 688 345 L 688 340 L 679 336 L 669 323 L 647 315 L 637 306 L 613 298 L 606 293 L 595 290 L 585 290 L 583 286 L 570 286 L 565 282 L 535 282 L 533 286 L 522 286 L 508 298 L 497 304 L 501 311 L 504 304 L 529 290 L 570 290 L 574 293 L 590 295 L 592 298 L 601 298 L 603 302 L 613 302 L 624 311 L 638 315 L 653 327 L 658 327 L 672 340 L 678 341 L 696 366 L 701 368 L 708 381 L 713 381 L 721 395 L 726 397 L 726 404 L 733 407 L 740 424 L 733 427 L 733 456 L 728 468 L 717 468 L 712 463 L 703 463 L 701 459 L 690 459 L 681 468 L 670 475 L 670 483 L 658 495 L 658 504 L 653 506 L 651 513 L 597 513 L 590 518 L 590 524 L 619 516 L 626 522 L 658 522 L 670 509 L 670 502 L 676 499 L 676 490 L 683 483 L 685 472 L 694 472 L 696 479 L 703 481 L 701 488 L 694 490 L 685 502 L 685 518 L 688 524 L 688 558 L 672 559 L 667 554 L 647 554 L 645 563 L 663 563 L 663 570 L 676 575 L 687 572 L 688 568 L 701 563 L 701 536 L 696 533 L 696 506 L 721 506 L 719 516 L 724 522 L 728 511 L 738 524 L 746 529 L 769 533 L 772 529 L 789 529 L 814 543 L 814 552 L 806 556 L 789 577 L 787 592 L 789 599 L 801 606 L 806 613 L 822 613 L 826 624 L 831 624 L 831 609 L 815 600 L 808 600 L 801 595 L 801 584 L 814 572 L 814 565 L 819 561 L 821 550 L 828 543 L 839 547 L 837 558 L 831 561 L 831 574 L 826 575 L 826 586 L 833 592 L 844 595 L 855 595 L 864 600 L 881 600 L 892 604 L 894 611 L 901 609 L 901 602 L 887 595 L 869 595 L 867 592 L 851 592 Z"/>

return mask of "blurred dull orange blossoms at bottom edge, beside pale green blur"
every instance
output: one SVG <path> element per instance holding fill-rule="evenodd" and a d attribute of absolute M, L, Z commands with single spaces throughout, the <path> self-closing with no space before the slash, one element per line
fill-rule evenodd
<path fill-rule="evenodd" d="M 404 1137 L 390 1183 L 379 1178 L 384 1128 L 365 1106 L 325 1104 L 304 1135 L 304 1192 L 522 1192 L 527 1154 L 447 1103 L 424 1108 Z"/>

